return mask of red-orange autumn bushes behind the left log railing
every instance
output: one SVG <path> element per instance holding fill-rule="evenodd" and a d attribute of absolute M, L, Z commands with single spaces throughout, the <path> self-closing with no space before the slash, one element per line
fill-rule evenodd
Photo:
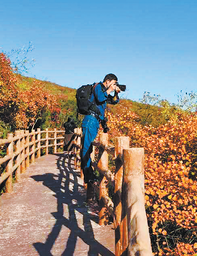
<path fill-rule="evenodd" d="M 0 53 L 1 121 L 9 123 L 15 130 L 32 127 L 46 111 L 54 117 L 61 110 L 59 95 L 48 90 L 42 81 L 32 78 L 31 83 L 22 86 L 23 80 L 12 71 L 5 54 Z M 65 95 L 61 98 L 67 99 Z"/>

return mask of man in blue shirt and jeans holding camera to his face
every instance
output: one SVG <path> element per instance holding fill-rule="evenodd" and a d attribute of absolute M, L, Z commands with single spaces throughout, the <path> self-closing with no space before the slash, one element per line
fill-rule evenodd
<path fill-rule="evenodd" d="M 100 123 L 104 132 L 108 131 L 105 118 L 105 109 L 107 103 L 117 104 L 119 102 L 118 93 L 120 88 L 117 86 L 118 78 L 115 74 L 107 74 L 103 82 L 94 86 L 93 94 L 90 96 L 90 102 L 96 105 L 96 111 L 89 110 L 82 121 L 82 171 L 84 182 L 86 184 L 96 185 L 96 178 L 91 164 L 90 154 L 92 153 L 92 144 L 99 131 Z M 115 92 L 114 96 L 110 95 Z"/>

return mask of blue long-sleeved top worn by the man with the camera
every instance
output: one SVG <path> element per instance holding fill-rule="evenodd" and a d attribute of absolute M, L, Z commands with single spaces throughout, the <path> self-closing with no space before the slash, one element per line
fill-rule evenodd
<path fill-rule="evenodd" d="M 116 97 L 116 100 L 113 100 L 112 95 L 107 95 L 106 88 L 103 85 L 102 82 L 100 82 L 98 85 L 94 88 L 94 93 L 90 96 L 90 102 L 94 103 L 97 108 L 100 110 L 100 119 L 104 119 L 105 116 L 105 109 L 107 107 L 107 103 L 115 105 L 119 102 L 119 97 Z"/>

